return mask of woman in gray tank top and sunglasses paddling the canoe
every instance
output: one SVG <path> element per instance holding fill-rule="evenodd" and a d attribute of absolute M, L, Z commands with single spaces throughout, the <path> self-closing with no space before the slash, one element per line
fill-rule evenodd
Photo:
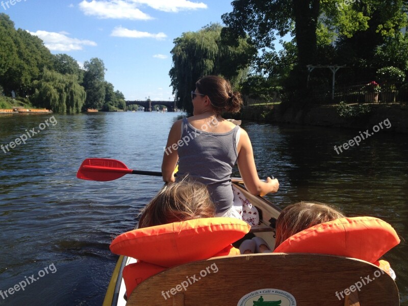
<path fill-rule="evenodd" d="M 208 75 L 196 82 L 191 92 L 193 116 L 176 121 L 171 127 L 162 173 L 165 182 L 174 182 L 174 168 L 179 161 L 178 177 L 189 174 L 207 185 L 216 205 L 216 216 L 241 219 L 239 207 L 233 205 L 232 168 L 238 168 L 251 194 L 276 192 L 279 183 L 268 177 L 259 179 L 248 134 L 238 125 L 222 118 L 222 112 L 239 112 L 241 94 L 230 82 Z"/>

